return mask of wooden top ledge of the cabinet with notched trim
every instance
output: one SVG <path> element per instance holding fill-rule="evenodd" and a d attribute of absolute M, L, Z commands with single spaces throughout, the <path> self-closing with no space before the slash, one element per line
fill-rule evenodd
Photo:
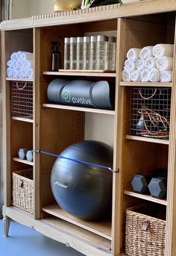
<path fill-rule="evenodd" d="M 128 4 L 110 4 L 84 10 L 80 9 L 32 16 L 26 19 L 12 19 L 1 22 L 1 30 L 92 22 L 151 13 L 166 13 L 175 10 L 175 0 L 136 0 L 136 2 Z"/>

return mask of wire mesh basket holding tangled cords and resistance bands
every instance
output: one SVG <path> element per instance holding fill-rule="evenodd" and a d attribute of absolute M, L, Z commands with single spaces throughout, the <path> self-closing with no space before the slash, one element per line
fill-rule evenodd
<path fill-rule="evenodd" d="M 131 134 L 169 140 L 171 88 L 131 88 Z"/>

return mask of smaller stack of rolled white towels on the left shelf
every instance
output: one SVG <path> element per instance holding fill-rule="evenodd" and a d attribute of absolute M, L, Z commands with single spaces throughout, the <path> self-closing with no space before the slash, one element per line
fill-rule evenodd
<path fill-rule="evenodd" d="M 33 78 L 33 53 L 13 52 L 7 61 L 8 78 Z"/>

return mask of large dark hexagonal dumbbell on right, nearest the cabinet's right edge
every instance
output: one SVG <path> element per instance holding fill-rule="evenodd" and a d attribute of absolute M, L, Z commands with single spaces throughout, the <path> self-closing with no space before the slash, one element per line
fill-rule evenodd
<path fill-rule="evenodd" d="M 151 196 L 157 199 L 163 199 L 167 192 L 167 179 L 166 178 L 151 178 L 148 184 L 148 190 Z"/>

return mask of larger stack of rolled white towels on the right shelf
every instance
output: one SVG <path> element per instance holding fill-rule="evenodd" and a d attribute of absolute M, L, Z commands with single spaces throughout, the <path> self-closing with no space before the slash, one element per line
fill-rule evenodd
<path fill-rule="evenodd" d="M 174 45 L 157 44 L 127 53 L 122 80 L 126 82 L 171 82 Z"/>

